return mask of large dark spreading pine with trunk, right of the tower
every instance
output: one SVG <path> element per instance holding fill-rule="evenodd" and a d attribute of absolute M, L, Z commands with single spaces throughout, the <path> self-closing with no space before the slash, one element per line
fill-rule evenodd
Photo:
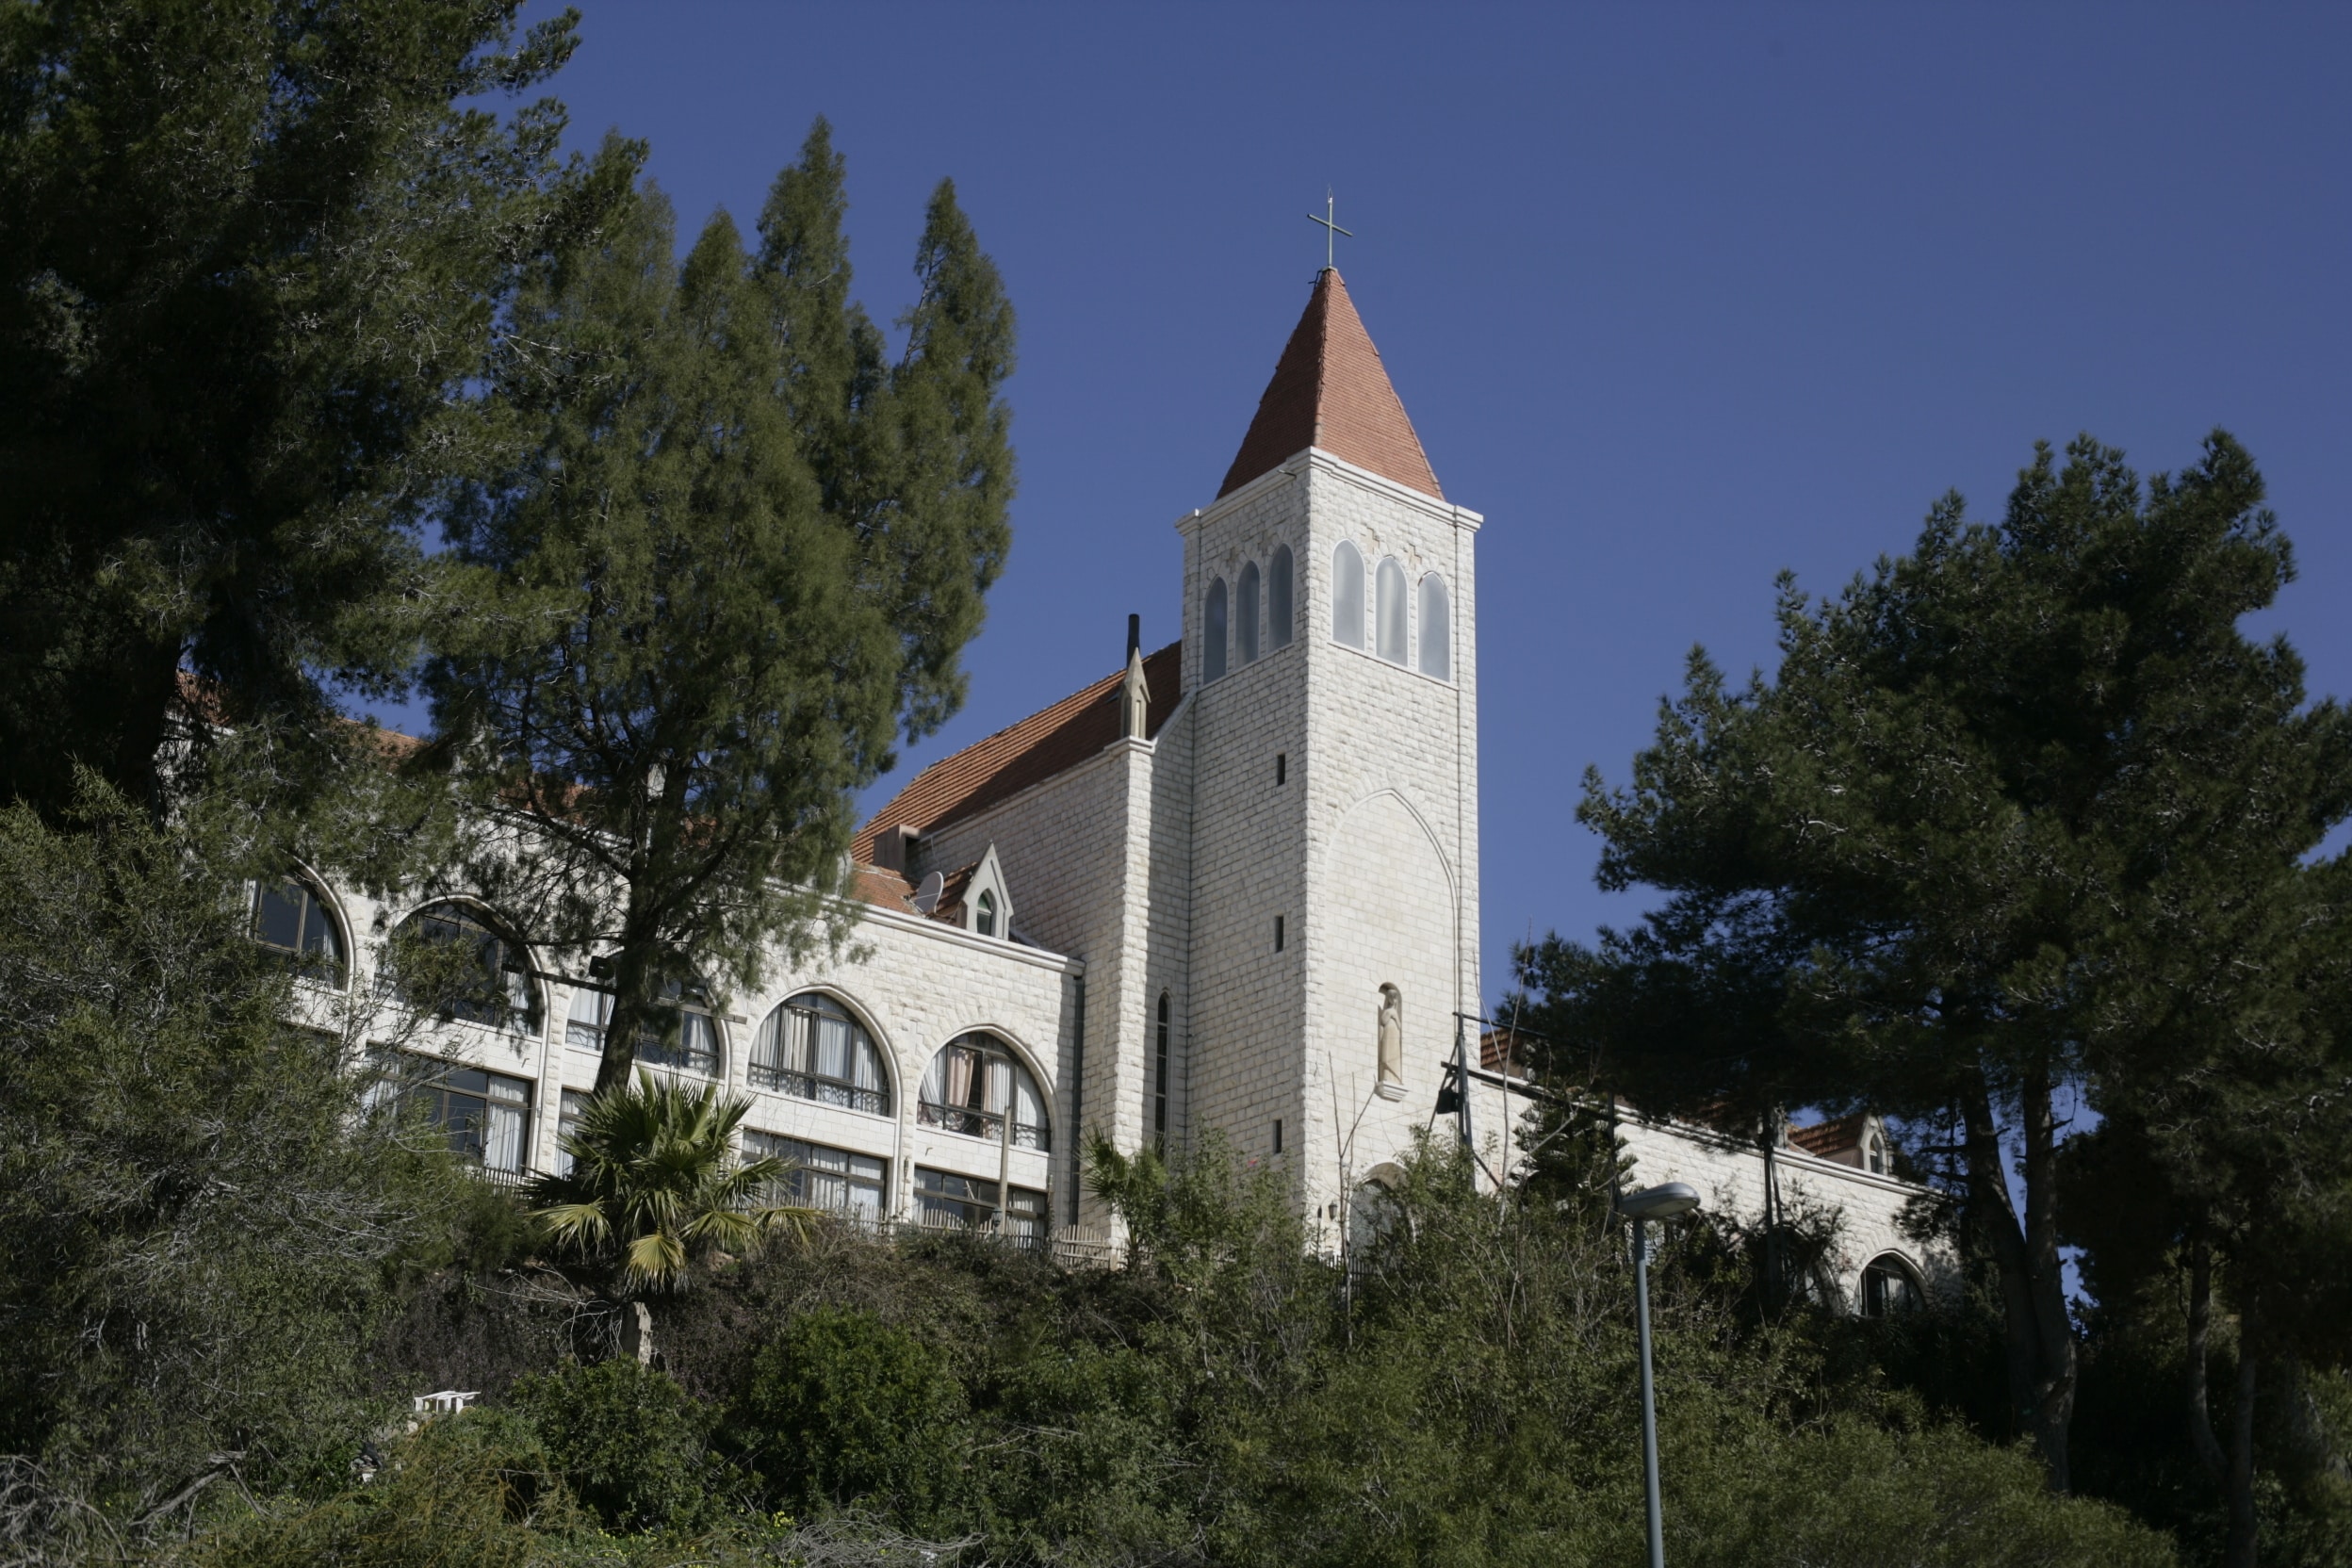
<path fill-rule="evenodd" d="M 1999 527 L 1950 496 L 1835 602 L 1783 578 L 1778 682 L 1731 691 L 1693 656 L 1632 788 L 1588 773 L 1602 884 L 1665 905 L 1524 961 L 1538 1027 L 1646 1107 L 1955 1128 L 2011 1403 L 2058 1488 L 2070 1095 L 2178 1067 L 2199 987 L 2263 954 L 2274 889 L 2352 806 L 2345 715 L 2237 625 L 2293 569 L 2260 501 L 2227 435 L 2145 494 L 2082 440 L 2063 470 L 2037 451 Z"/>

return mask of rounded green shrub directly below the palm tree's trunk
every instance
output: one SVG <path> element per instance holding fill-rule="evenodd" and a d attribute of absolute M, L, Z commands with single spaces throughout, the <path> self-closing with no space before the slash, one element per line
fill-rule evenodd
<path fill-rule="evenodd" d="M 621 1356 L 520 1378 L 508 1399 L 604 1523 L 675 1530 L 710 1512 L 710 1415 L 673 1378 Z"/>

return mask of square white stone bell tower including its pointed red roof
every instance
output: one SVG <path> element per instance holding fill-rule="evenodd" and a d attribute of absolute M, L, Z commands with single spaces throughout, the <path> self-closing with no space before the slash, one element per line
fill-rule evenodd
<path fill-rule="evenodd" d="M 1479 1011 L 1479 522 L 1327 266 L 1223 489 L 1176 524 L 1185 1121 L 1317 1213 L 1428 1126 Z"/>

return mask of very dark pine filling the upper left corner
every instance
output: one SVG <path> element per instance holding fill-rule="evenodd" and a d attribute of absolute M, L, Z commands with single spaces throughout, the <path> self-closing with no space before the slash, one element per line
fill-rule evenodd
<path fill-rule="evenodd" d="M 0 12 L 0 797 L 162 809 L 181 736 L 282 806 L 355 738 L 329 682 L 412 675 L 463 386 L 600 200 L 557 103 L 473 106 L 572 52 L 517 9 Z"/>

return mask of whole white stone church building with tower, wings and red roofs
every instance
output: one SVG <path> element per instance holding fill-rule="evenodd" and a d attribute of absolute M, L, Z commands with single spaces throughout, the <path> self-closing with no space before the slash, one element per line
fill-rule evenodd
<path fill-rule="evenodd" d="M 1145 651 L 1131 623 L 1124 670 L 917 773 L 856 837 L 851 947 L 710 1001 L 654 1067 L 748 1098 L 748 1145 L 873 1218 L 1101 1234 L 1082 1131 L 1218 1128 L 1343 1222 L 1416 1131 L 1458 1126 L 1432 1112 L 1458 1032 L 1477 1056 L 1482 522 L 1446 501 L 1327 268 L 1216 498 L 1176 520 L 1176 642 Z M 256 919 L 339 952 L 409 919 L 496 947 L 520 1025 L 440 1030 L 430 1093 L 485 1166 L 553 1168 L 595 1081 L 593 978 L 466 903 L 301 882 Z M 1472 1072 L 1489 1168 L 1519 1107 Z M 1771 1152 L 1625 1135 L 1644 1180 L 1743 1218 L 1776 1182 L 1835 1208 L 1823 1286 L 1856 1305 L 1940 1288 L 1947 1260 L 1898 1229 L 1917 1187 L 1877 1121 Z"/>

